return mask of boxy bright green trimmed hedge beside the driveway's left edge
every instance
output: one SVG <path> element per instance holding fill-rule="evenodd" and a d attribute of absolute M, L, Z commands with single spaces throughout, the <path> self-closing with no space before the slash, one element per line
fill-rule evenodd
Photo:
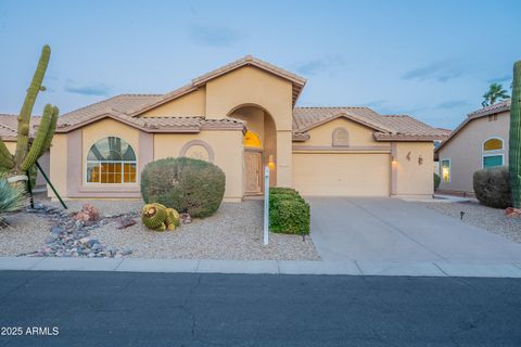
<path fill-rule="evenodd" d="M 309 234 L 309 204 L 291 188 L 269 190 L 269 229 L 277 233 Z"/>

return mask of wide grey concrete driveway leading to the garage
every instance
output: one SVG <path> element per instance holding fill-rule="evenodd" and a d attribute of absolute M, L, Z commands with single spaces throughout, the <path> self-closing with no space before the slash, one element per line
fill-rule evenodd
<path fill-rule="evenodd" d="M 521 261 L 521 244 L 391 197 L 310 197 L 322 260 Z"/>

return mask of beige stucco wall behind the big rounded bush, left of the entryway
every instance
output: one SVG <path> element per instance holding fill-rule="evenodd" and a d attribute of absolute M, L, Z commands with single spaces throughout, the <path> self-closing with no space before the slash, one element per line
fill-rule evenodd
<path fill-rule="evenodd" d="M 200 133 L 161 133 L 154 136 L 154 159 L 177 157 L 190 141 L 204 141 L 214 154 L 214 164 L 225 171 L 225 200 L 237 202 L 243 195 L 242 131 L 201 131 Z M 196 142 L 194 145 L 199 146 Z M 200 149 L 202 151 L 202 149 Z"/>

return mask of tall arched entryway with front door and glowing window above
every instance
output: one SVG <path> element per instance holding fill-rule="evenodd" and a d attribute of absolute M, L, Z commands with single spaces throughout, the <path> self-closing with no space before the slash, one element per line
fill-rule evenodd
<path fill-rule="evenodd" d="M 246 123 L 244 134 L 244 194 L 262 194 L 264 167 L 270 168 L 270 187 L 277 183 L 277 130 L 271 115 L 258 105 L 241 105 L 229 117 Z"/>

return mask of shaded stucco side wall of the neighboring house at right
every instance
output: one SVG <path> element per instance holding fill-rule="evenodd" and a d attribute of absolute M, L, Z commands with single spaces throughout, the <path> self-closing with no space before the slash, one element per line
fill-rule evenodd
<path fill-rule="evenodd" d="M 481 117 L 468 123 L 439 152 L 440 163 L 450 158 L 450 182 L 440 183 L 440 189 L 473 192 L 472 175 L 482 168 L 483 142 L 490 138 L 501 138 L 505 146 L 505 165 L 508 165 L 510 114 L 498 114 L 497 120 Z"/>

